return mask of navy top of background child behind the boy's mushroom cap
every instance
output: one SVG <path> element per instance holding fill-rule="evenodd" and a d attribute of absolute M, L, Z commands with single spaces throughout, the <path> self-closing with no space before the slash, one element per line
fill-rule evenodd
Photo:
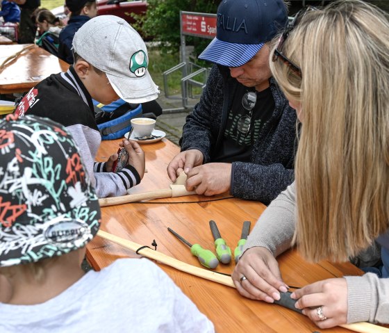
<path fill-rule="evenodd" d="M 88 22 L 90 17 L 86 15 L 78 15 L 70 17 L 67 26 L 60 33 L 60 45 L 58 47 L 58 57 L 65 60 L 69 64 L 73 64 L 72 43 L 75 33 L 78 29 Z"/>

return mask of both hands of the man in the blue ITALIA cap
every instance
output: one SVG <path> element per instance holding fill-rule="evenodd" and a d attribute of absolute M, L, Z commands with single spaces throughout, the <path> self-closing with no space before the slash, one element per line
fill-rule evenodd
<path fill-rule="evenodd" d="M 185 188 L 199 195 L 224 193 L 231 186 L 231 163 L 207 163 L 198 149 L 190 149 L 176 155 L 167 166 L 167 174 L 176 181 L 183 169 L 188 176 Z"/>

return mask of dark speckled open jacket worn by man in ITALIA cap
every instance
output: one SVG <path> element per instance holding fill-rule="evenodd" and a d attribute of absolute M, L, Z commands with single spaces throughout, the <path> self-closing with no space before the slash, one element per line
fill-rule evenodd
<path fill-rule="evenodd" d="M 186 118 L 181 151 L 199 149 L 204 154 L 204 163 L 213 161 L 223 140 L 228 111 L 238 85 L 228 68 L 213 66 L 199 103 Z M 275 109 L 254 143 L 251 163 L 233 162 L 231 174 L 232 195 L 264 204 L 269 204 L 294 180 L 297 149 L 296 111 L 272 78 L 270 89 Z"/>

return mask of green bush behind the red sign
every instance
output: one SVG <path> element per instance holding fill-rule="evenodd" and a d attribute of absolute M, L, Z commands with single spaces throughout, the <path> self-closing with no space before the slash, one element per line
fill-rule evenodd
<path fill-rule="evenodd" d="M 147 15 L 134 15 L 135 29 L 155 42 L 160 51 L 176 52 L 180 46 L 180 10 L 197 13 L 216 13 L 220 0 L 148 0 Z M 195 46 L 198 55 L 210 40 L 185 36 L 187 45 Z"/>

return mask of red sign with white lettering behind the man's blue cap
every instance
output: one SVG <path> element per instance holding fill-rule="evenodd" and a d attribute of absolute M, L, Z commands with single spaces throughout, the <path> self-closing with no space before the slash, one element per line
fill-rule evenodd
<path fill-rule="evenodd" d="M 181 13 L 181 29 L 184 35 L 214 38 L 216 36 L 216 14 Z"/>

